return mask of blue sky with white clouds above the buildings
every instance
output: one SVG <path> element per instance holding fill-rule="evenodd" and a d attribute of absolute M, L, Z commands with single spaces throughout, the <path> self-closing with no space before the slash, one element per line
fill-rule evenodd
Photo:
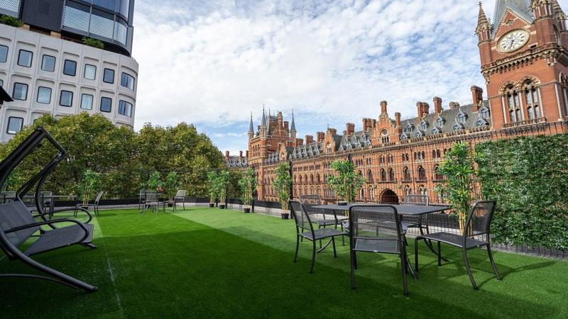
<path fill-rule="evenodd" d="M 137 0 L 135 129 L 193 123 L 234 155 L 263 106 L 294 112 L 303 138 L 360 129 L 383 100 L 403 119 L 434 96 L 471 103 L 470 86 L 486 87 L 478 13 L 477 0 Z"/>

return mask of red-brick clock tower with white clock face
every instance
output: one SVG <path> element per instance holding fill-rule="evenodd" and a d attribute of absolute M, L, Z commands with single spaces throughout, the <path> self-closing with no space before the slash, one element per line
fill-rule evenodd
<path fill-rule="evenodd" d="M 481 3 L 476 34 L 493 128 L 568 119 L 568 30 L 557 0 Z"/>

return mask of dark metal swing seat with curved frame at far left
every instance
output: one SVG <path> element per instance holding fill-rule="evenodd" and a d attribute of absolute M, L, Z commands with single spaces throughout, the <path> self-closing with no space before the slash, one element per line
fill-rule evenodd
<path fill-rule="evenodd" d="M 92 249 L 97 248 L 91 243 L 93 225 L 88 224 L 92 218 L 89 211 L 81 209 L 88 216 L 87 222 L 82 223 L 70 218 L 48 219 L 47 216 L 49 213 L 45 213 L 43 209 L 42 201 L 40 201 L 41 187 L 53 169 L 65 158 L 65 149 L 63 149 L 45 129 L 36 128 L 26 140 L 16 147 L 16 150 L 13 150 L 13 152 L 0 163 L 0 188 L 4 185 L 13 169 L 28 155 L 37 150 L 44 140 L 50 142 L 58 150 L 58 154 L 55 155 L 45 167 L 40 169 L 40 172 L 31 177 L 30 180 L 26 181 L 26 183 L 16 191 L 14 201 L 0 205 L 0 248 L 10 260 L 20 260 L 24 264 L 28 264 L 48 276 L 0 274 L 0 277 L 45 279 L 55 281 L 59 284 L 65 284 L 75 289 L 97 291 L 96 286 L 86 284 L 83 281 L 58 272 L 55 269 L 31 259 L 31 256 L 35 254 L 57 250 L 58 248 L 70 245 L 83 245 Z M 21 199 L 23 196 L 26 196 L 28 191 L 34 186 L 35 206 L 38 211 L 38 214 L 35 216 L 32 215 L 31 211 Z M 60 213 L 62 211 L 70 210 L 65 209 L 50 213 Z M 40 218 L 40 220 L 38 221 L 36 218 Z M 57 224 L 60 223 L 73 223 L 75 225 L 58 228 Z M 20 250 L 19 247 L 31 237 L 37 237 L 37 239 L 32 242 L 26 250 Z"/>

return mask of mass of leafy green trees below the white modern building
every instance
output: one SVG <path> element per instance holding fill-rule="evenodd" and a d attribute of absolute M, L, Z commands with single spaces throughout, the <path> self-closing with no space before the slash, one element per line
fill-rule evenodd
<path fill-rule="evenodd" d="M 179 186 L 187 196 L 207 194 L 207 172 L 224 167 L 223 157 L 207 135 L 195 126 L 180 123 L 166 128 L 146 124 L 139 133 L 116 127 L 101 114 L 80 113 L 56 119 L 49 114 L 23 128 L 12 140 L 0 145 L 0 159 L 22 142 L 36 126 L 43 126 L 67 150 L 43 186 L 55 194 L 77 194 L 82 172 L 91 169 L 102 176 L 102 190 L 109 198 L 136 198 L 152 172 L 164 176 L 178 172 Z M 10 187 L 17 189 L 47 164 L 55 148 L 44 143 L 12 172 Z M 16 176 L 18 175 L 18 176 Z M 155 189 L 153 187 L 152 189 Z"/>

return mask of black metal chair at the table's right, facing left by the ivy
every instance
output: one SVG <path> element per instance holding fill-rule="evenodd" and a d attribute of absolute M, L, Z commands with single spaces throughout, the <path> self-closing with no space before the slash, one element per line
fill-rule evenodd
<path fill-rule="evenodd" d="M 489 261 L 491 262 L 491 267 L 493 268 L 493 272 L 497 280 L 501 280 L 501 276 L 499 276 L 499 272 L 497 270 L 497 266 L 495 261 L 493 260 L 493 254 L 491 253 L 491 220 L 493 219 L 493 213 L 495 212 L 495 201 L 478 201 L 469 211 L 466 217 L 466 223 L 464 225 L 464 234 L 457 235 L 452 233 L 432 233 L 427 235 L 420 235 L 415 238 L 414 246 L 415 246 L 415 270 L 418 271 L 418 240 L 420 239 L 427 239 L 438 242 L 438 266 L 442 266 L 442 258 L 440 257 L 441 254 L 441 245 L 440 243 L 444 242 L 445 244 L 452 245 L 454 247 L 461 248 L 464 263 L 466 266 L 467 274 L 469 275 L 469 280 L 471 281 L 471 285 L 474 286 L 474 289 L 477 288 L 477 284 L 474 280 L 473 274 L 471 274 L 471 269 L 469 267 L 469 259 L 467 257 L 467 251 L 479 248 L 479 247 L 487 247 L 487 253 L 489 255 Z"/>

